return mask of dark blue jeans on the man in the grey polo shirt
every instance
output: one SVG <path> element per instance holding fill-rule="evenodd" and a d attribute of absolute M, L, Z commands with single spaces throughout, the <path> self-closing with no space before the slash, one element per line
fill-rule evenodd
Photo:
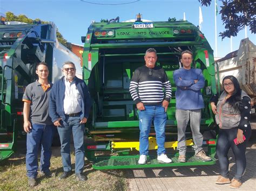
<path fill-rule="evenodd" d="M 54 125 L 32 124 L 26 134 L 26 175 L 36 178 L 38 171 L 37 154 L 41 145 L 40 171 L 50 171 L 51 144 L 55 132 Z"/>

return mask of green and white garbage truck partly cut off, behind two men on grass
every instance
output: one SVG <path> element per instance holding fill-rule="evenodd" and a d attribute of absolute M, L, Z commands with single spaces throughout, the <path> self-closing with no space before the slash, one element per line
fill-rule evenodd
<path fill-rule="evenodd" d="M 80 59 L 58 43 L 57 27 L 49 24 L 4 22 L 0 24 L 0 161 L 16 150 L 17 139 L 23 131 L 23 102 L 25 87 L 36 80 L 36 65 L 48 63 L 49 80 L 62 76 L 62 63 L 76 64 L 77 76 L 82 79 Z"/>

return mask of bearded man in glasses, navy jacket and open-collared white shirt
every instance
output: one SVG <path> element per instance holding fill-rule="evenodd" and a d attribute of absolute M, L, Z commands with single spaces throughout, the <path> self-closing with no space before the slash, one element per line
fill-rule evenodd
<path fill-rule="evenodd" d="M 64 76 L 53 84 L 49 102 L 52 122 L 58 127 L 64 172 L 59 179 L 72 174 L 70 159 L 70 135 L 73 134 L 75 146 L 75 173 L 80 181 L 85 181 L 84 168 L 84 124 L 87 122 L 91 108 L 91 100 L 85 82 L 76 77 L 73 62 L 63 65 Z"/>

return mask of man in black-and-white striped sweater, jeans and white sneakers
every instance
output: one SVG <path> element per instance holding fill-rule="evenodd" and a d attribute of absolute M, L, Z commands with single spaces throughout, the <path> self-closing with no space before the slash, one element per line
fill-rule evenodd
<path fill-rule="evenodd" d="M 157 160 L 169 163 L 165 154 L 166 110 L 172 96 L 171 83 L 163 68 L 156 66 L 157 52 L 149 48 L 144 56 L 145 65 L 137 68 L 131 79 L 130 93 L 139 110 L 139 164 L 145 164 L 149 154 L 149 133 L 152 121 L 157 139 Z M 163 88 L 165 91 L 163 91 Z"/>

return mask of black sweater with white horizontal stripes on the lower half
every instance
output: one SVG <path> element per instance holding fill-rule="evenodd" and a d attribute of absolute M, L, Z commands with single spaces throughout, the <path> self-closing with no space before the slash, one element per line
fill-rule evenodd
<path fill-rule="evenodd" d="M 144 105 L 160 105 L 163 100 L 170 102 L 172 87 L 163 68 L 151 69 L 144 65 L 134 71 L 130 93 L 136 104 L 142 102 Z"/>

